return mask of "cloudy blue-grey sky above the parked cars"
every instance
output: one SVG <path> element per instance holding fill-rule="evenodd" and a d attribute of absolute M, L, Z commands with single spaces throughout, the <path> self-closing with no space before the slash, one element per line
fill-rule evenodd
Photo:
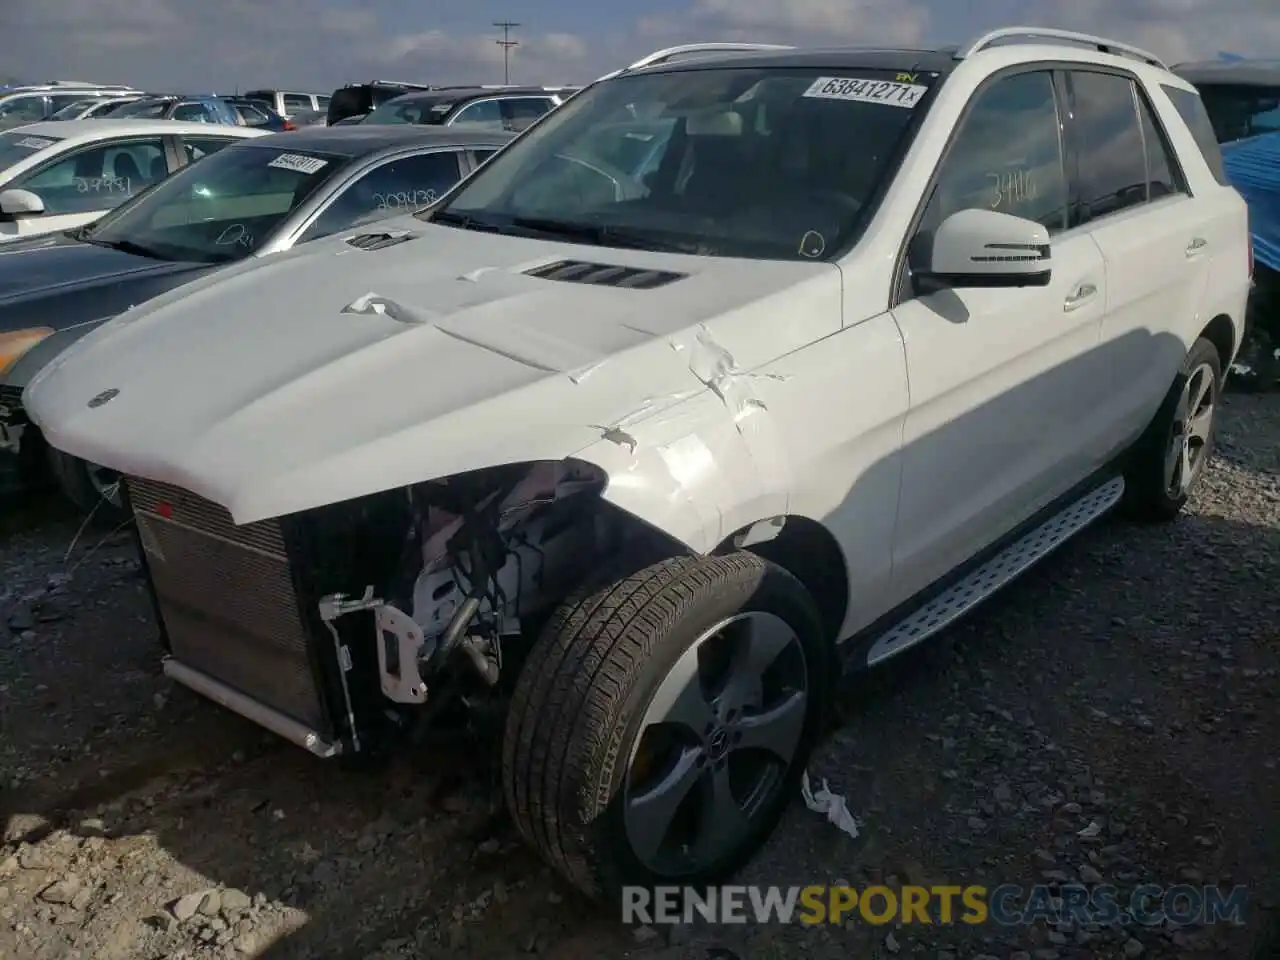
<path fill-rule="evenodd" d="M 1170 60 L 1280 54 L 1277 0 L 27 0 L 0 3 L 0 76 L 151 90 L 332 90 L 372 77 L 585 82 L 691 40 L 942 45 L 1004 24 L 1137 42 Z"/>

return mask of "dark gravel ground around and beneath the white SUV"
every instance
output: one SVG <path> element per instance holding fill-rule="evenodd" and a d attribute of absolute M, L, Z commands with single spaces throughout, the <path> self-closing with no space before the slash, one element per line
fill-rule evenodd
<path fill-rule="evenodd" d="M 0 534 L 0 957 L 1239 957 L 1275 914 L 1280 397 L 1228 399 L 1174 525 L 1105 521 L 849 691 L 812 772 L 861 836 L 797 797 L 742 877 L 1239 883 L 1243 929 L 626 929 L 520 846 L 474 745 L 348 773 L 168 682 L 128 541 L 68 563 L 74 534 Z"/>

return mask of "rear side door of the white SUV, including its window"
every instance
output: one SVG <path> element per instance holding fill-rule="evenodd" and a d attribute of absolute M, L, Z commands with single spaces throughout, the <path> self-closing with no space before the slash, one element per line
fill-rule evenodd
<path fill-rule="evenodd" d="M 1107 383 L 1093 403 L 1112 453 L 1146 428 L 1174 381 L 1187 346 L 1169 330 L 1193 325 L 1213 244 L 1142 86 L 1105 69 L 1069 70 L 1066 86 L 1071 225 L 1094 239 L 1106 269 Z"/>

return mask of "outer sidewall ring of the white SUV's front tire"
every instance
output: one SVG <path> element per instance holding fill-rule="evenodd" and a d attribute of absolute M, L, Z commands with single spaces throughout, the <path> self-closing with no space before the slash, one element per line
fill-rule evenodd
<path fill-rule="evenodd" d="M 621 888 L 627 884 L 652 890 L 655 886 L 680 886 L 686 882 L 709 883 L 731 876 L 750 860 L 799 790 L 809 753 L 831 707 L 836 660 L 832 644 L 824 635 L 822 621 L 804 586 L 790 573 L 765 561 L 760 561 L 760 571 L 754 580 L 719 581 L 716 590 L 701 593 L 685 607 L 675 628 L 655 640 L 648 663 L 623 699 L 621 716 L 626 718 L 626 724 L 611 744 L 612 769 L 608 771 L 607 781 L 611 799 L 595 826 L 596 842 L 605 851 L 605 856 L 596 860 L 603 872 L 596 879 L 608 901 L 620 902 Z M 809 709 L 804 731 L 780 788 L 759 813 L 755 827 L 739 851 L 722 858 L 691 881 L 663 877 L 645 867 L 627 841 L 625 801 L 631 755 L 649 704 L 677 660 L 713 623 L 746 612 L 773 613 L 786 621 L 800 637 L 809 682 Z"/>

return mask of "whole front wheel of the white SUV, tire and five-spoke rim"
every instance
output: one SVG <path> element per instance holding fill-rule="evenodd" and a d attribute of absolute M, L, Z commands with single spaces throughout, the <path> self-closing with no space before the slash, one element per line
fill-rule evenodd
<path fill-rule="evenodd" d="M 730 876 L 776 826 L 829 703 L 813 599 L 750 553 L 678 557 L 571 598 L 517 681 L 517 828 L 588 896 Z"/>

